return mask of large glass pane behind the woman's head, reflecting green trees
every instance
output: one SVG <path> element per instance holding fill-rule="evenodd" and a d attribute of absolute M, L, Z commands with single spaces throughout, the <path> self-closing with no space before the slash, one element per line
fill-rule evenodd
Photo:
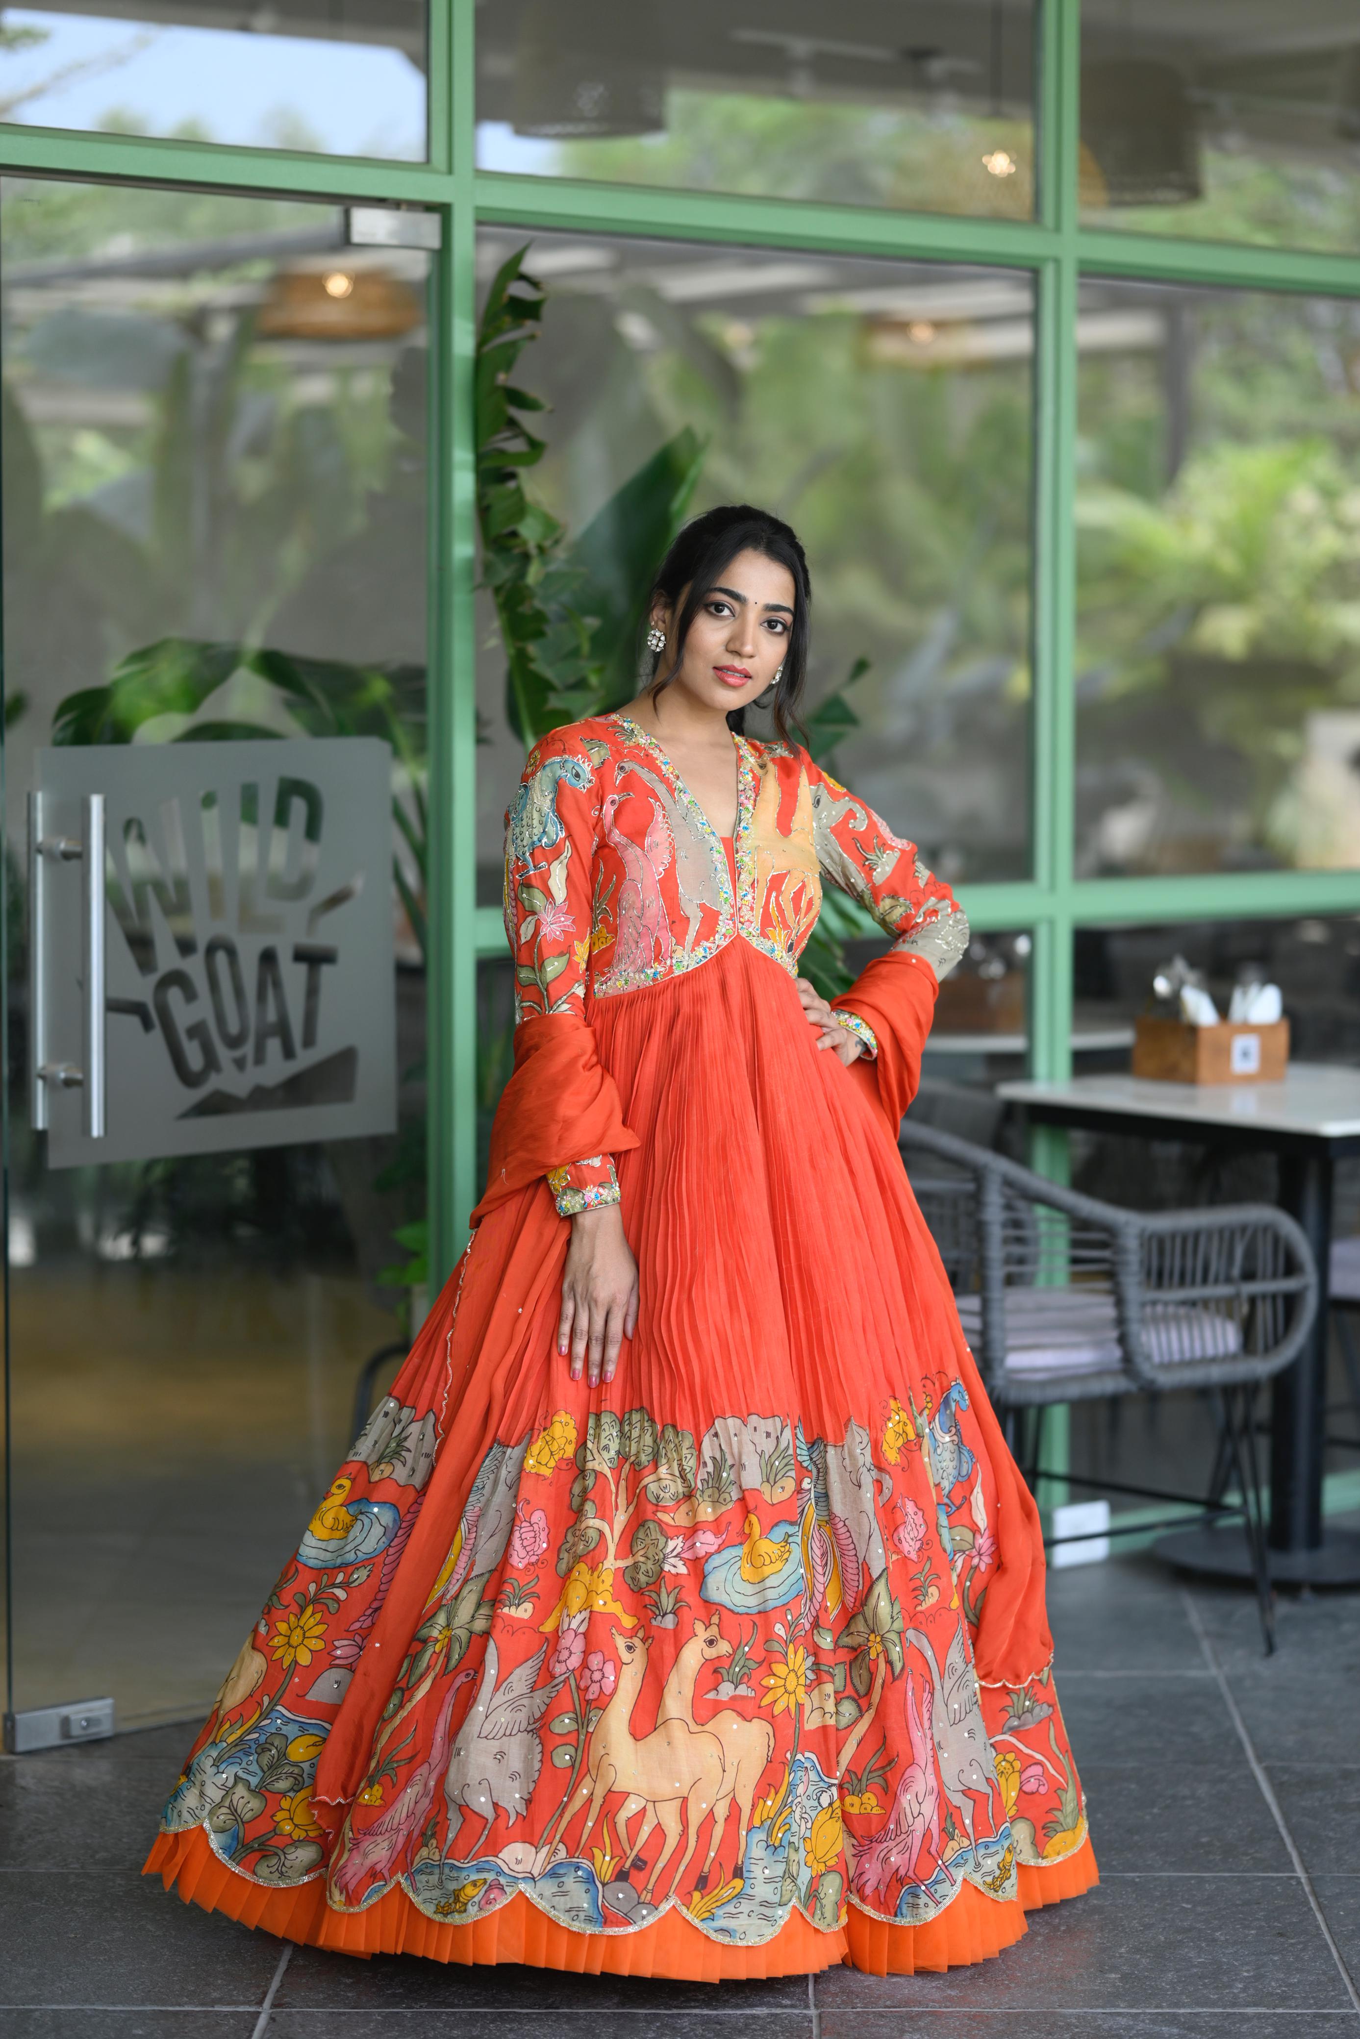
<path fill-rule="evenodd" d="M 483 281 L 520 245 L 483 232 Z M 546 287 L 544 345 L 516 379 L 551 406 L 532 414 L 546 455 L 528 489 L 563 520 L 563 559 L 589 563 L 604 546 L 618 561 L 620 528 L 632 553 L 626 587 L 587 577 L 573 597 L 601 618 L 595 699 L 612 708 L 636 691 L 640 606 L 673 508 L 689 489 L 693 510 L 767 504 L 809 553 L 807 703 L 844 687 L 858 716 L 830 769 L 950 881 L 1022 877 L 1030 279 L 555 234 L 534 237 L 528 267 Z M 498 903 L 526 732 L 508 720 L 495 612 L 481 599 L 479 895 Z M 869 669 L 850 679 L 860 659 Z"/>

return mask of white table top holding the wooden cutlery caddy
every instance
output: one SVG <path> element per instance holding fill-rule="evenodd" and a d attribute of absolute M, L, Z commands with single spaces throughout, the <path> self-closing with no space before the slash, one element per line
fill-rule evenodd
<path fill-rule="evenodd" d="M 1130 1119 L 1187 1126 L 1260 1126 L 1262 1132 L 1342 1140 L 1360 1134 L 1360 1068 L 1291 1062 L 1283 1083 L 1152 1083 L 1148 1077 L 1070 1077 L 999 1083 L 1015 1105 L 1079 1105 Z"/>

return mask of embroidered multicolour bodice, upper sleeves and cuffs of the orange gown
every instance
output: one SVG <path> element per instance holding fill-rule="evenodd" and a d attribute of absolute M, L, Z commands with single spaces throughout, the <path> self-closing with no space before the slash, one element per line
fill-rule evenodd
<path fill-rule="evenodd" d="M 618 997 L 699 969 L 734 940 L 789 975 L 822 909 L 846 891 L 893 948 L 944 977 L 969 924 L 916 844 L 895 836 L 805 750 L 732 738 L 738 754 L 734 867 L 665 748 L 624 714 L 591 716 L 534 746 L 506 814 L 506 936 L 516 1022 L 585 1015 L 585 995 Z M 873 1052 L 873 1034 L 850 1024 Z M 561 1179 L 561 1181 L 559 1181 Z M 553 1170 L 561 1209 L 612 1201 L 608 1156 Z M 589 1195 L 599 1191 L 599 1195 Z M 563 1201 L 565 1197 L 575 1201 Z"/>

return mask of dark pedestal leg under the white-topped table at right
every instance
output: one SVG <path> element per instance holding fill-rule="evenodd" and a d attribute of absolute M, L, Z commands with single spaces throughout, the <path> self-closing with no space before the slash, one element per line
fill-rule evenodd
<path fill-rule="evenodd" d="M 1276 1374 L 1270 1413 L 1270 1552 L 1321 1550 L 1321 1476 L 1327 1409 L 1327 1264 L 1331 1258 L 1331 1156 L 1280 1154 L 1280 1203 L 1317 1260 L 1317 1321 Z"/>

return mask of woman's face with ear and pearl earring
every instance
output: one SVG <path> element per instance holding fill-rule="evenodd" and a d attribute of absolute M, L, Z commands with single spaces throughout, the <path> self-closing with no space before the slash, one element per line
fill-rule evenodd
<path fill-rule="evenodd" d="M 679 687 L 703 708 L 720 710 L 724 716 L 734 708 L 746 708 L 765 693 L 783 665 L 795 599 L 797 589 L 787 567 L 767 559 L 765 553 L 738 553 L 699 604 L 685 638 L 681 669 L 667 693 Z M 675 657 L 671 630 L 683 606 L 681 595 L 673 610 L 663 602 L 652 610 L 652 622 L 667 632 L 661 673 L 671 669 Z"/>

